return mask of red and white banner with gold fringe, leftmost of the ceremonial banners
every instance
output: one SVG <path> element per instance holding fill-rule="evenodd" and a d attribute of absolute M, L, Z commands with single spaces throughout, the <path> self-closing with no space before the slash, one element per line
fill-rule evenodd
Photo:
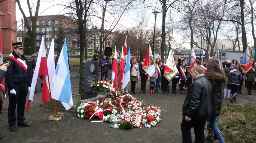
<path fill-rule="evenodd" d="M 150 45 L 148 45 L 148 52 L 146 54 L 146 59 L 142 66 L 142 70 L 144 70 L 145 73 L 147 73 L 148 76 L 150 76 L 150 77 L 153 76 L 153 74 L 156 72 L 155 63 L 154 63 Z"/>

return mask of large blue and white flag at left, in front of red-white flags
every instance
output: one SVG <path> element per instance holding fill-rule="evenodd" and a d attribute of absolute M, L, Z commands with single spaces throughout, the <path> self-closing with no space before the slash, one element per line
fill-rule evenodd
<path fill-rule="evenodd" d="M 59 61 L 53 76 L 52 98 L 62 103 L 66 110 L 73 106 L 72 90 L 69 75 L 69 62 L 66 38 L 59 55 Z"/>

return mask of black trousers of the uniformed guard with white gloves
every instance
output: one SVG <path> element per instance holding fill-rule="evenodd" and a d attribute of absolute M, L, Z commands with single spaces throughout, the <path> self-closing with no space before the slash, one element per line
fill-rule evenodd
<path fill-rule="evenodd" d="M 14 89 L 16 91 L 16 95 L 10 94 L 9 95 L 9 107 L 8 107 L 8 123 L 9 126 L 14 126 L 16 124 L 16 120 L 18 122 L 22 122 L 25 120 L 24 117 L 24 110 L 26 105 L 26 97 L 28 93 L 28 84 L 14 84 Z M 16 105 L 17 105 L 17 119 L 16 119 Z"/>

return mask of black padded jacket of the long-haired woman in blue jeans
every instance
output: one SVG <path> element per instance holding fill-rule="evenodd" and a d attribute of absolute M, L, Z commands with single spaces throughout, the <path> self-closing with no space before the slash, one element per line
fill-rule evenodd
<path fill-rule="evenodd" d="M 221 83 L 214 82 L 212 87 L 212 116 L 217 117 L 221 114 L 221 104 L 223 102 L 222 93 L 224 92 L 224 86 L 222 86 Z"/>

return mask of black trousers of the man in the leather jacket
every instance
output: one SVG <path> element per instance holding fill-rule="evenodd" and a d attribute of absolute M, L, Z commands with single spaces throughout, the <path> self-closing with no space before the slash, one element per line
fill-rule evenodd
<path fill-rule="evenodd" d="M 204 127 L 207 119 L 193 119 L 186 121 L 185 117 L 181 122 L 181 133 L 183 143 L 192 143 L 191 128 L 194 128 L 196 143 L 204 143 Z"/>

